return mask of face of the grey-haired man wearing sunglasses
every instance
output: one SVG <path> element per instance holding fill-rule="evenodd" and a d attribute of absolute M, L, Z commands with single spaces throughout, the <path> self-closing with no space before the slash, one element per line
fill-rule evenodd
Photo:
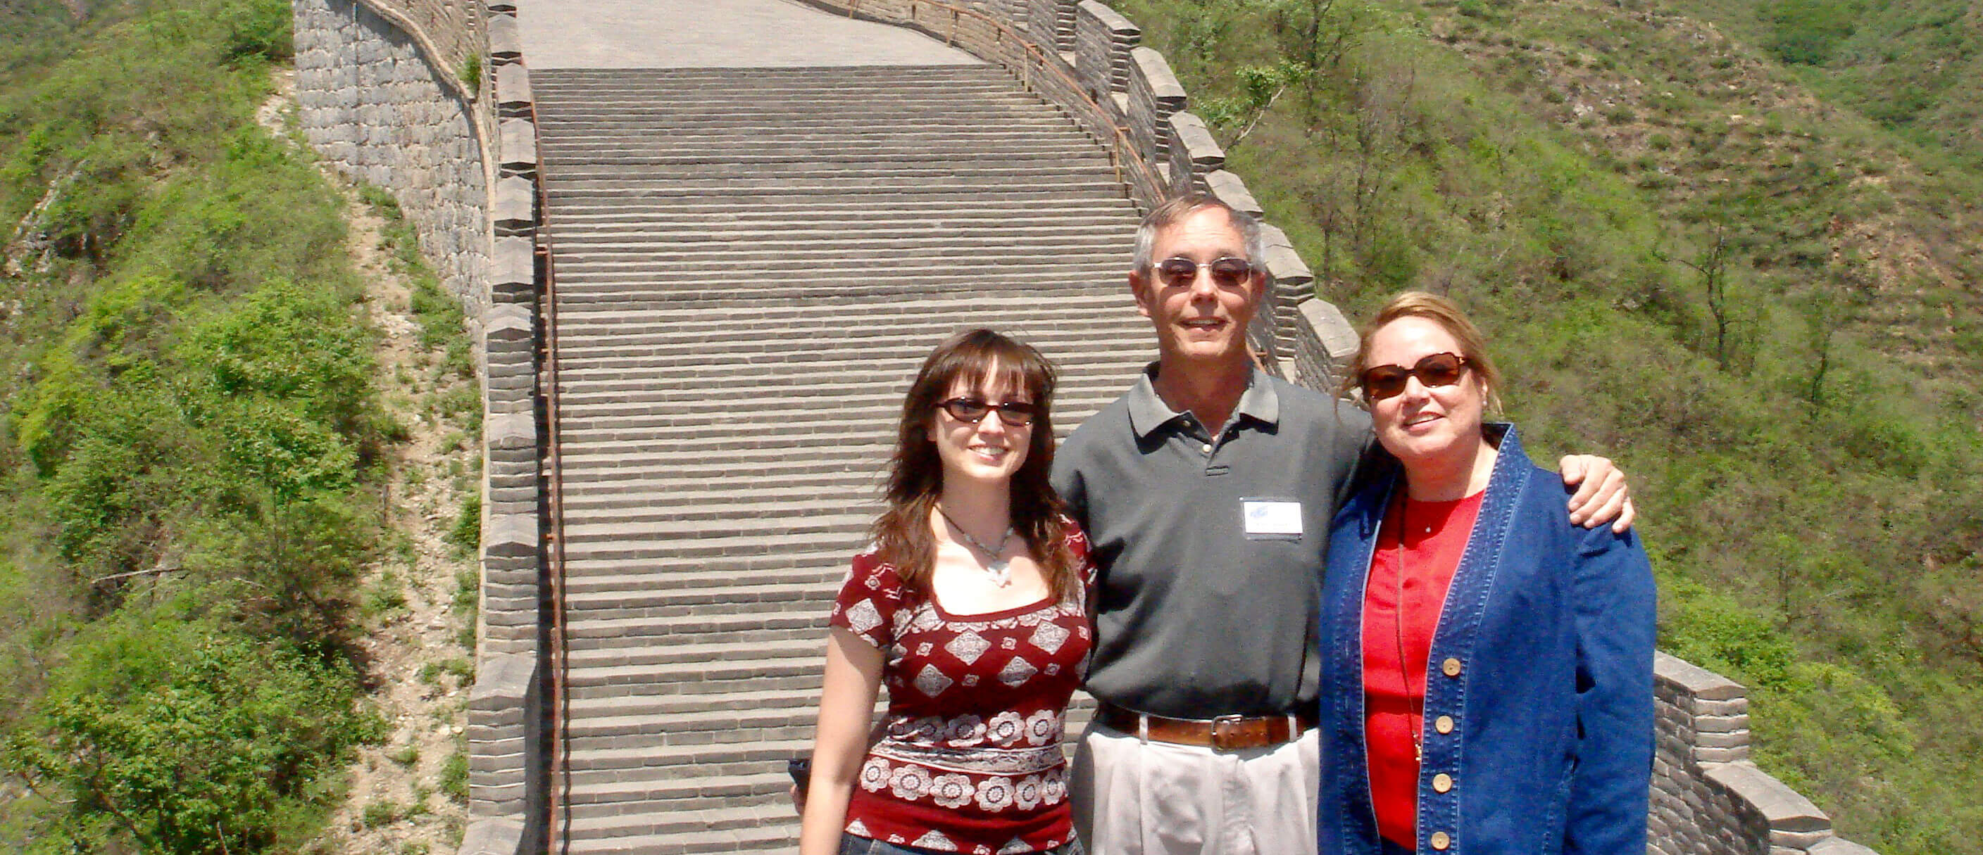
<path fill-rule="evenodd" d="M 1182 258 L 1198 264 L 1186 278 L 1166 282 L 1158 268 Z M 1164 363 L 1231 365 L 1247 361 L 1245 327 L 1253 319 L 1265 276 L 1247 274 L 1220 282 L 1210 268 L 1220 258 L 1247 260 L 1245 238 L 1224 208 L 1200 208 L 1156 232 L 1148 272 L 1130 272 L 1136 309 L 1156 325 Z"/>

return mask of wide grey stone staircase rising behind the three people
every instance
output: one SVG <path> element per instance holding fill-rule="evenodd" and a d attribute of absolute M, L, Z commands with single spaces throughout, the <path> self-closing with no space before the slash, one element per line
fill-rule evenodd
<path fill-rule="evenodd" d="M 1061 434 L 1154 357 L 1105 151 L 993 65 L 533 73 L 557 282 L 571 853 L 789 853 L 900 397 L 990 325 Z M 553 799 L 561 797 L 553 782 Z"/>

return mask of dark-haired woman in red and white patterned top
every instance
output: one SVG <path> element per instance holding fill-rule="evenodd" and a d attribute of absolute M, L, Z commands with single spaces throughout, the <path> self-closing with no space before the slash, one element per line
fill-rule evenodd
<path fill-rule="evenodd" d="M 1053 383 L 990 329 L 916 373 L 888 510 L 833 605 L 801 855 L 1081 855 L 1061 724 L 1093 571 L 1047 484 Z"/>

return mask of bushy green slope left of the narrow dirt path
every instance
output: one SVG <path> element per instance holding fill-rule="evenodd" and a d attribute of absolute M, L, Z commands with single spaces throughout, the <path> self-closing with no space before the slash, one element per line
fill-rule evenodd
<path fill-rule="evenodd" d="M 297 851 L 381 732 L 343 204 L 254 125 L 282 0 L 0 6 L 0 849 Z"/>

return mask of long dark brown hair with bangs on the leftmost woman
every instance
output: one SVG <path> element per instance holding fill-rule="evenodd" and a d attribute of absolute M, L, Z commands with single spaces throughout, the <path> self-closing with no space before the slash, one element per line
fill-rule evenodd
<path fill-rule="evenodd" d="M 1025 393 L 1037 407 L 1025 462 L 1011 476 L 1011 528 L 1025 540 L 1027 553 L 1047 577 L 1053 599 L 1073 599 L 1081 581 L 1075 555 L 1067 548 L 1061 498 L 1047 480 L 1047 472 L 1053 470 L 1049 405 L 1057 371 L 1031 345 L 992 329 L 968 329 L 936 345 L 902 399 L 902 423 L 896 430 L 894 458 L 888 462 L 888 510 L 875 520 L 873 530 L 880 557 L 894 565 L 914 595 L 928 597 L 930 573 L 936 569 L 930 512 L 944 492 L 944 462 L 936 454 L 936 442 L 930 442 L 930 423 L 936 421 L 936 405 L 960 379 L 972 389 L 992 381 L 995 387 Z"/>

